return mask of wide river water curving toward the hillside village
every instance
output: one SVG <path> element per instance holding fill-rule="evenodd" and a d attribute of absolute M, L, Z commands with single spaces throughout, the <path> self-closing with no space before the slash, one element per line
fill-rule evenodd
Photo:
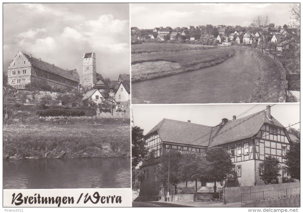
<path fill-rule="evenodd" d="M 250 51 L 235 48 L 235 54 L 221 64 L 132 83 L 132 103 L 231 103 L 244 100 L 256 87 L 260 72 L 260 65 Z"/>

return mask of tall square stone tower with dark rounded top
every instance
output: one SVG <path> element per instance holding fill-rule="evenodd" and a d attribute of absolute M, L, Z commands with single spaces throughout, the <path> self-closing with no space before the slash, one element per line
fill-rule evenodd
<path fill-rule="evenodd" d="M 85 53 L 83 56 L 83 87 L 93 87 L 97 83 L 96 78 L 96 54 Z"/>

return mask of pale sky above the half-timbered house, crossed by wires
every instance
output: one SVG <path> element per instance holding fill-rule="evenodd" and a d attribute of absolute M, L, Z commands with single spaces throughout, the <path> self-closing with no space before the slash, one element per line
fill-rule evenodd
<path fill-rule="evenodd" d="M 222 118 L 232 120 L 235 115 L 238 118 L 260 112 L 266 109 L 267 105 L 259 104 L 244 115 L 239 116 L 256 104 L 225 104 L 225 105 L 132 105 L 133 120 L 135 126 L 144 129 L 144 134 L 148 133 L 163 118 L 198 123 L 214 127 L 218 125 Z M 300 121 L 300 104 L 276 104 L 271 107 L 271 115 L 277 119 L 284 127 Z M 300 123 L 292 126 L 300 129 Z"/>

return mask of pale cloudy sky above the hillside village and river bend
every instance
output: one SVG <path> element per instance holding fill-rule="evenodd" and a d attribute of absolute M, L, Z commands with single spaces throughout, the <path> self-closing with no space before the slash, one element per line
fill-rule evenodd
<path fill-rule="evenodd" d="M 268 15 L 276 26 L 288 24 L 288 3 L 131 4 L 131 26 L 139 29 L 188 25 L 248 26 L 256 15 Z"/>

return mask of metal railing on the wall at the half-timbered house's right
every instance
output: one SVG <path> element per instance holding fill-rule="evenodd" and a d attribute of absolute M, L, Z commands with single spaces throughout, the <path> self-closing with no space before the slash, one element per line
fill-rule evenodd
<path fill-rule="evenodd" d="M 241 203 L 300 196 L 300 187 L 257 191 L 241 194 Z"/>

